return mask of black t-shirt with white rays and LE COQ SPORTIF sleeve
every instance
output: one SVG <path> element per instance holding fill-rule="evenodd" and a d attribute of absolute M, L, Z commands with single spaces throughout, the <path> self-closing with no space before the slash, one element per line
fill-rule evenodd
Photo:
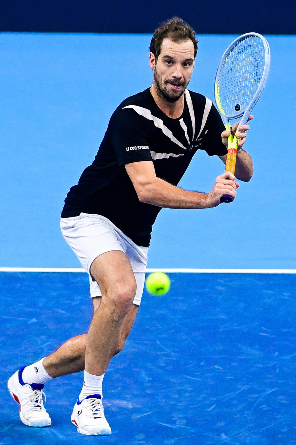
<path fill-rule="evenodd" d="M 161 207 L 140 202 L 125 164 L 153 161 L 156 176 L 177 185 L 197 149 L 222 156 L 225 129 L 213 103 L 185 91 L 181 117 L 172 119 L 156 105 L 150 89 L 125 99 L 111 116 L 91 166 L 71 187 L 62 218 L 95 213 L 110 219 L 139 246 L 149 246 Z"/>

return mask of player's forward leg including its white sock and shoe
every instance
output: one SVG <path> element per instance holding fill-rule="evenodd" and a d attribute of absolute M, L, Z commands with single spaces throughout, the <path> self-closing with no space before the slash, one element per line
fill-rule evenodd
<path fill-rule="evenodd" d="M 122 325 L 133 305 L 137 283 L 130 262 L 122 251 L 106 252 L 91 264 L 91 275 L 102 291 L 87 334 L 84 382 L 71 415 L 77 431 L 109 435 L 111 428 L 102 405 L 103 378 L 114 354 L 122 349 Z"/>

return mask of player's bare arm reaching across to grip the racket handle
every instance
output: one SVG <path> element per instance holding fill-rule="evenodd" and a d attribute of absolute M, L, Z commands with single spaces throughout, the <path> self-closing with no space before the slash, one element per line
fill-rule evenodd
<path fill-rule="evenodd" d="M 152 161 L 132 162 L 125 165 L 127 174 L 141 202 L 170 209 L 206 209 L 220 204 L 224 194 L 236 197 L 239 184 L 227 172 L 216 178 L 210 193 L 183 190 L 157 178 Z"/>

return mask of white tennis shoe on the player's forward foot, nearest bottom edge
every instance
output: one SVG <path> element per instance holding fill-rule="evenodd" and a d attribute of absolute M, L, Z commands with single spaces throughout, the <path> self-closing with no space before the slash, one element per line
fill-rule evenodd
<path fill-rule="evenodd" d="M 71 422 L 82 434 L 94 436 L 110 436 L 111 428 L 104 414 L 102 397 L 99 394 L 87 396 L 83 401 L 75 403 Z"/>

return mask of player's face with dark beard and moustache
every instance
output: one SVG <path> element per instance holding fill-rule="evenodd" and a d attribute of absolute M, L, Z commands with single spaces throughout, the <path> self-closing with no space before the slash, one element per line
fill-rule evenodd
<path fill-rule="evenodd" d="M 189 84 L 194 65 L 194 46 L 191 40 L 162 41 L 161 53 L 155 61 L 150 53 L 150 66 L 154 70 L 153 83 L 158 95 L 168 102 L 176 102 Z"/>

